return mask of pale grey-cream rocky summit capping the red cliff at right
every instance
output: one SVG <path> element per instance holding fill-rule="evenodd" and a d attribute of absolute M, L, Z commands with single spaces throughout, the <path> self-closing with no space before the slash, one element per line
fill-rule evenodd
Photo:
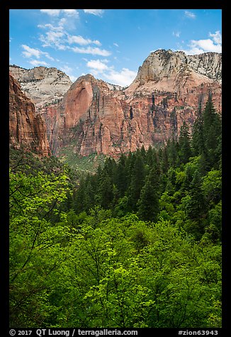
<path fill-rule="evenodd" d="M 186 55 L 182 51 L 156 50 L 145 59 L 127 92 L 135 91 L 150 81 L 152 81 L 152 86 L 157 84 L 157 88 L 162 89 L 168 86 L 168 90 L 171 91 L 176 91 L 178 82 L 180 80 L 184 82 L 184 79 L 188 77 L 193 79 L 196 85 L 206 81 L 203 76 L 207 79 L 221 81 L 221 67 L 221 54 L 219 53 Z"/>

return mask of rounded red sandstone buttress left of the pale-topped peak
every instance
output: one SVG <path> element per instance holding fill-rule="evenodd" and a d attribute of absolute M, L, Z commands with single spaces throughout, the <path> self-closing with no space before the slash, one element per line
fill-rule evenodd
<path fill-rule="evenodd" d="M 74 143 L 74 151 L 84 156 L 120 153 L 120 128 L 127 115 L 123 105 L 106 82 L 89 74 L 79 77 L 57 109 L 52 151 L 59 154 Z"/>

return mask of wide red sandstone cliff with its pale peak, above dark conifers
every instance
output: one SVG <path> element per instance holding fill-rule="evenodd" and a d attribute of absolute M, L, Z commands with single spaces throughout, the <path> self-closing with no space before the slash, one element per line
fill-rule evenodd
<path fill-rule="evenodd" d="M 198 106 L 205 107 L 209 93 L 221 113 L 220 74 L 220 54 L 188 57 L 184 52 L 157 50 L 125 91 L 111 90 L 94 76 L 81 76 L 56 110 L 52 152 L 59 156 L 71 149 L 83 156 L 116 157 L 178 137 L 184 120 L 193 125 Z"/>

